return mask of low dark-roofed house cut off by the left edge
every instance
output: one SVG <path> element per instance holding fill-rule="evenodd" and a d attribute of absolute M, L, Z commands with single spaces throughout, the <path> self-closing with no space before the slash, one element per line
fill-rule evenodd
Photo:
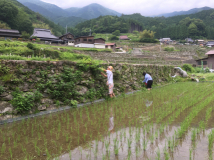
<path fill-rule="evenodd" d="M 0 29 L 0 37 L 4 37 L 6 39 L 19 38 L 21 34 L 18 30 L 13 29 Z"/>

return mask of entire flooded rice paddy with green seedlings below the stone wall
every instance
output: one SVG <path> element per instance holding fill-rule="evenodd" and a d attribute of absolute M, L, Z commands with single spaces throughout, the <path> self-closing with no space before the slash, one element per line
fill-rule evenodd
<path fill-rule="evenodd" d="M 0 159 L 212 159 L 213 87 L 176 83 L 5 124 Z"/>

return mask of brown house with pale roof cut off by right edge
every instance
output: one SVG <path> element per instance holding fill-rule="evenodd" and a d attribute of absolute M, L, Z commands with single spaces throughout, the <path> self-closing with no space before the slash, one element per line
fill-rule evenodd
<path fill-rule="evenodd" d="M 203 67 L 209 67 L 210 69 L 214 69 L 214 50 L 207 52 L 205 55 L 208 57 L 196 60 L 197 66 L 201 67 L 203 62 Z"/>

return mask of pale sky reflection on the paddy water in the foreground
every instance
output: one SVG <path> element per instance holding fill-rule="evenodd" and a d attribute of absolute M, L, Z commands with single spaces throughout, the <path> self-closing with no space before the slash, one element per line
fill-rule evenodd
<path fill-rule="evenodd" d="M 111 118 L 110 116 L 110 123 Z M 112 131 L 112 125 L 110 126 Z M 113 127 L 114 128 L 114 127 Z M 163 134 L 159 135 L 153 142 L 151 135 L 158 129 L 158 125 L 154 125 L 150 130 L 144 132 L 142 128 L 124 128 L 117 132 L 111 132 L 100 141 L 88 142 L 84 146 L 79 146 L 70 153 L 62 155 L 54 160 L 141 160 L 141 159 L 156 159 L 157 153 L 160 152 L 160 159 L 165 159 L 164 148 L 167 146 L 167 141 L 171 138 L 179 127 L 170 126 L 165 128 Z M 208 140 L 207 135 L 211 130 L 206 130 L 205 134 L 201 133 L 197 138 L 197 146 L 193 152 L 194 160 L 208 159 Z M 138 136 L 140 139 L 138 139 Z M 146 144 L 144 143 L 146 141 Z M 174 152 L 169 151 L 171 159 L 189 159 L 189 150 L 191 145 L 191 129 L 183 139 L 178 139 L 179 145 Z M 146 145 L 146 146 L 145 146 Z M 145 151 L 144 151 L 145 149 Z M 118 150 L 118 153 L 117 153 Z M 199 154 L 200 153 L 200 154 Z"/>

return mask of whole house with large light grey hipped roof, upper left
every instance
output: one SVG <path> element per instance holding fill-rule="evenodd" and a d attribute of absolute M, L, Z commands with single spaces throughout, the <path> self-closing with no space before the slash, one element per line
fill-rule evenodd
<path fill-rule="evenodd" d="M 48 41 L 50 43 L 61 43 L 58 37 L 54 36 L 49 29 L 42 28 L 34 28 L 33 34 L 31 35 L 31 39 L 33 37 L 39 38 L 41 41 Z"/>

